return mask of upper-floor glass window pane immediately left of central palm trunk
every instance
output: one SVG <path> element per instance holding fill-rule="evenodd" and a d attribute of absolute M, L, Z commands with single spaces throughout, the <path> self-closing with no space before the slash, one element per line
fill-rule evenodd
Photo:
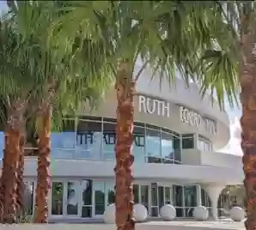
<path fill-rule="evenodd" d="M 104 123 L 103 124 L 103 159 L 104 160 L 115 160 L 115 123 Z"/>

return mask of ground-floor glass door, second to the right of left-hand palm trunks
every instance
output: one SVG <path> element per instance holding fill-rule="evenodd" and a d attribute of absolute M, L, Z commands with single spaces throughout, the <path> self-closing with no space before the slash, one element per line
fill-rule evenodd
<path fill-rule="evenodd" d="M 79 181 L 66 181 L 64 183 L 65 215 L 77 217 L 79 207 L 79 192 Z"/>

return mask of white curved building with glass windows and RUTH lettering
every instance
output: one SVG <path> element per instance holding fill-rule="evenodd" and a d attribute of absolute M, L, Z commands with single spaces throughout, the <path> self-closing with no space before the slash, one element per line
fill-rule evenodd
<path fill-rule="evenodd" d="M 137 82 L 133 154 L 135 203 L 149 216 L 171 203 L 177 217 L 192 216 L 204 205 L 217 217 L 217 201 L 225 185 L 241 184 L 241 157 L 217 152 L 230 138 L 229 116 L 210 96 L 204 100 L 192 83 L 186 88 L 146 70 Z M 115 91 L 96 110 L 83 107 L 69 118 L 63 133 L 52 134 L 50 218 L 101 218 L 114 203 Z M 25 177 L 36 184 L 36 158 L 27 157 Z"/>

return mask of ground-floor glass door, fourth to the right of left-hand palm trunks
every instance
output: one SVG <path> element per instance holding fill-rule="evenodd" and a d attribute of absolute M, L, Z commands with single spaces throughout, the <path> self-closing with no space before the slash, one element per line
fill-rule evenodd
<path fill-rule="evenodd" d="M 101 217 L 105 211 L 105 183 L 94 182 L 94 217 Z"/>

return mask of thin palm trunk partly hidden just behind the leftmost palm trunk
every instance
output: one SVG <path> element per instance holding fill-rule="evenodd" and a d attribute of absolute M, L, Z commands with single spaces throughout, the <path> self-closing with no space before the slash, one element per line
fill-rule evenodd
<path fill-rule="evenodd" d="M 24 181 L 23 181 L 23 173 L 24 173 L 24 147 L 25 147 L 26 137 L 25 133 L 21 136 L 20 140 L 20 159 L 17 170 L 17 214 L 21 215 L 21 212 L 24 209 Z"/>

